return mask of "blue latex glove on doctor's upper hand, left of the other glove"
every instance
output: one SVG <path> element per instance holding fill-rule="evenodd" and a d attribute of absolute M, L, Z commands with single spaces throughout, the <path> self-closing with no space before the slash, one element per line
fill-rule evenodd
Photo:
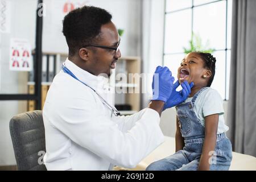
<path fill-rule="evenodd" d="M 156 67 L 152 81 L 152 100 L 166 101 L 171 96 L 171 91 L 174 86 L 174 77 L 172 72 L 167 67 Z"/>

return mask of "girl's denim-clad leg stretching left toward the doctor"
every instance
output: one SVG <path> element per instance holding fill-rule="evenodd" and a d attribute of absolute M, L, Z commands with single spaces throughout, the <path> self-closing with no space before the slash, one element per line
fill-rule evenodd
<path fill-rule="evenodd" d="M 177 151 L 174 155 L 168 156 L 167 158 L 157 160 L 151 163 L 146 171 L 174 171 L 180 168 L 183 164 L 187 164 L 189 161 L 185 151 Z"/>

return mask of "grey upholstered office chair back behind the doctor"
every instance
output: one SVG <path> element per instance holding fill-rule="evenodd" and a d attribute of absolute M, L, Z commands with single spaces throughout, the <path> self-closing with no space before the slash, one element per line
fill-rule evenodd
<path fill-rule="evenodd" d="M 11 140 L 18 170 L 46 171 L 46 139 L 41 110 L 17 114 L 10 121 Z"/>

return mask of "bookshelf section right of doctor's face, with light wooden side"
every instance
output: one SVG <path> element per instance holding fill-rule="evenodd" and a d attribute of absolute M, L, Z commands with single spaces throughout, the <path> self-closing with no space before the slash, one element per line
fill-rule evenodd
<path fill-rule="evenodd" d="M 130 115 L 141 110 L 141 59 L 135 56 L 121 57 L 113 71 L 115 87 L 114 103 L 121 115 Z"/>

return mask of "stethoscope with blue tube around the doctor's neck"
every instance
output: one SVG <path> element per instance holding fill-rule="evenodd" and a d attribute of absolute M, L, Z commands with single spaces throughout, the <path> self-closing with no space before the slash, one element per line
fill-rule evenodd
<path fill-rule="evenodd" d="M 96 92 L 96 90 L 94 90 L 92 87 L 90 87 L 89 85 L 85 84 L 85 83 L 82 82 L 81 80 L 79 80 L 79 78 L 77 78 L 77 77 L 65 66 L 65 63 L 63 63 L 61 69 L 64 71 L 64 73 L 67 73 L 68 75 L 70 75 L 70 76 L 72 76 L 73 78 L 75 78 L 77 81 L 80 81 L 82 84 L 84 84 L 84 85 L 88 86 L 90 89 L 92 89 L 92 90 L 97 94 L 97 96 L 100 98 L 101 102 L 102 102 L 106 107 L 108 107 L 108 109 L 112 112 L 112 114 L 114 114 L 115 116 L 120 115 L 120 113 L 118 112 L 118 110 L 115 109 L 115 107 L 113 107 L 112 105 L 108 104 L 108 102 L 105 101 L 105 99 L 102 98 L 102 97 L 100 96 L 100 94 L 98 94 L 98 93 Z"/>

